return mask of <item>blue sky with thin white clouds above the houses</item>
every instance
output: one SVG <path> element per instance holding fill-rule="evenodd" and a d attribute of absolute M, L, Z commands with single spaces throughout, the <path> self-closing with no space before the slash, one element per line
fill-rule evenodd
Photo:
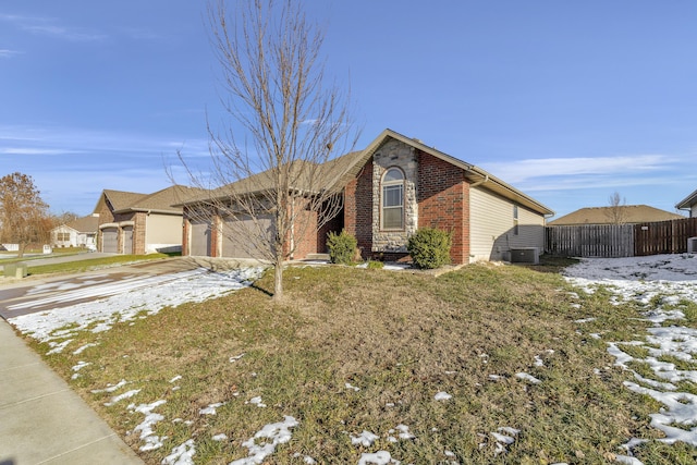
<path fill-rule="evenodd" d="M 54 212 L 170 185 L 223 117 L 205 1 L 0 3 L 0 175 Z M 358 148 L 390 127 L 557 211 L 697 188 L 697 2 L 309 0 Z M 185 182 L 185 178 L 178 178 Z"/>

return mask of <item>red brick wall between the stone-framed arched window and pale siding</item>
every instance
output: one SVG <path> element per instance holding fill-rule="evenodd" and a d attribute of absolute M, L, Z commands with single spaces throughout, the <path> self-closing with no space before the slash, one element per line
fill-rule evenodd
<path fill-rule="evenodd" d="M 431 155 L 418 154 L 418 227 L 451 231 L 453 264 L 469 261 L 469 184 L 465 171 Z"/>

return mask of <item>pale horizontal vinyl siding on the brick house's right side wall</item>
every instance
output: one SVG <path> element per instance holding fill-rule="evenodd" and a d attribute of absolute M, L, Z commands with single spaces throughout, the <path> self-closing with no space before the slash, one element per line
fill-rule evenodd
<path fill-rule="evenodd" d="M 469 253 L 472 261 L 509 260 L 515 247 L 545 248 L 545 217 L 518 206 L 515 234 L 512 200 L 482 187 L 469 191 Z"/>

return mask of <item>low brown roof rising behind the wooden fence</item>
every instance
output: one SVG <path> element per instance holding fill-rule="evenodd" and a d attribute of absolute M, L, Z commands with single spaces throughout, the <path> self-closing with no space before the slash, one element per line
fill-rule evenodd
<path fill-rule="evenodd" d="M 649 207 L 648 205 L 621 205 L 616 207 L 587 207 L 550 221 L 550 227 L 582 224 L 638 224 L 657 221 L 682 220 L 683 216 Z"/>

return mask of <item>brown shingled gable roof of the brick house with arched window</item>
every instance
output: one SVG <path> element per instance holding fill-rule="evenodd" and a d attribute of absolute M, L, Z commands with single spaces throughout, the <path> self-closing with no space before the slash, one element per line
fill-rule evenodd
<path fill-rule="evenodd" d="M 365 163 L 370 160 L 372 155 L 389 139 L 393 138 L 395 140 L 400 140 L 404 144 L 407 144 L 420 151 L 432 155 L 436 158 L 439 158 L 443 161 L 447 161 L 455 167 L 458 167 L 465 171 L 465 178 L 476 185 L 481 185 L 484 188 L 492 191 L 504 198 L 509 198 L 524 207 L 529 208 L 533 211 L 536 211 L 540 215 L 551 216 L 554 215 L 554 211 L 535 200 L 533 197 L 529 197 L 526 194 L 523 194 L 521 191 L 515 187 L 504 183 L 500 179 L 493 176 L 487 171 L 475 167 L 474 164 L 466 163 L 457 158 L 451 157 L 448 154 L 444 154 L 440 150 L 437 150 L 433 147 L 428 147 L 423 144 L 420 140 L 406 137 L 395 131 L 387 129 L 380 133 L 380 135 L 372 140 L 365 149 L 359 151 L 352 151 L 350 154 L 343 155 L 341 157 L 333 158 L 320 166 L 314 166 L 311 163 L 305 161 L 296 161 L 297 167 L 307 167 L 310 166 L 313 169 L 319 170 L 319 179 L 322 180 L 323 188 L 328 191 L 340 192 L 343 187 L 348 184 L 348 182 L 356 176 L 358 176 L 360 170 L 365 166 Z M 239 194 L 249 194 L 253 195 L 255 193 L 262 192 L 265 189 L 271 188 L 271 176 L 270 170 L 264 171 L 261 173 L 254 174 L 249 178 L 243 179 L 241 181 L 236 181 L 234 183 L 228 184 L 222 187 L 218 187 L 213 191 L 208 191 L 207 194 L 203 194 L 198 197 L 192 197 L 188 201 L 184 201 L 180 205 L 189 205 L 196 204 L 199 201 L 205 201 L 206 199 L 220 199 L 228 197 L 230 193 Z M 302 170 L 299 172 L 302 174 Z M 291 188 L 298 189 L 316 189 L 318 186 L 309 186 L 302 175 L 296 178 L 296 185 L 291 186 Z"/>

